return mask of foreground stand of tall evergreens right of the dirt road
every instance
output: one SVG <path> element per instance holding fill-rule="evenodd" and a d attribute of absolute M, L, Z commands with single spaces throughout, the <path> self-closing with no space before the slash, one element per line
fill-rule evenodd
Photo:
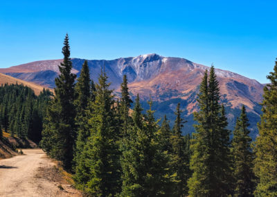
<path fill-rule="evenodd" d="M 173 128 L 166 116 L 159 126 L 151 99 L 145 114 L 139 94 L 130 110 L 126 76 L 119 98 L 109 89 L 105 66 L 94 83 L 84 61 L 75 83 L 68 35 L 62 53 L 40 145 L 88 196 L 277 195 L 277 63 L 265 87 L 260 135 L 251 144 L 244 106 L 230 138 L 214 67 L 200 85 L 196 132 L 183 136 L 179 104 Z"/>

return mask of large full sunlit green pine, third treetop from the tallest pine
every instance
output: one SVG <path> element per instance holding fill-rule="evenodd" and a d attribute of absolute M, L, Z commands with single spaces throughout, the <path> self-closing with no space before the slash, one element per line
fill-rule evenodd
<path fill-rule="evenodd" d="M 120 189 L 118 133 L 112 90 L 102 72 L 96 85 L 96 101 L 89 119 L 90 137 L 76 168 L 75 182 L 91 196 L 114 196 Z"/>

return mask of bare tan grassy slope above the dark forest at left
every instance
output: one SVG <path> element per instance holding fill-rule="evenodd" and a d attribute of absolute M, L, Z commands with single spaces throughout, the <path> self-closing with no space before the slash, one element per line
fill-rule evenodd
<path fill-rule="evenodd" d="M 33 91 L 35 92 L 36 95 L 39 95 L 40 92 L 42 92 L 42 90 L 44 88 L 47 88 L 47 87 L 43 87 L 41 85 L 37 85 L 35 83 L 30 83 L 30 82 L 27 82 L 25 80 L 20 80 L 18 78 L 13 78 L 12 76 L 8 76 L 6 74 L 1 74 L 0 73 L 0 85 L 4 85 L 4 84 L 22 84 L 22 85 L 26 85 L 28 87 L 30 87 L 31 89 L 33 89 Z"/>

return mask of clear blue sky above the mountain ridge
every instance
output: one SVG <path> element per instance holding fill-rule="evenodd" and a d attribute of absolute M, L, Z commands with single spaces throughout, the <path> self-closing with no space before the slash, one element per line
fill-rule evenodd
<path fill-rule="evenodd" d="M 158 53 L 266 83 L 277 57 L 277 1 L 1 1 L 0 67 L 71 56 Z"/>

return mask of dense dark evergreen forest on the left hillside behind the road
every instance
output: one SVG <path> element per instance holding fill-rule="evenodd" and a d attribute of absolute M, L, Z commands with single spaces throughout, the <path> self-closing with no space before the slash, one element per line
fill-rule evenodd
<path fill-rule="evenodd" d="M 39 142 L 42 139 L 42 123 L 51 95 L 48 89 L 43 89 L 36 96 L 33 89 L 24 85 L 1 85 L 0 128 L 10 132 L 11 136 L 17 135 L 19 138 Z"/>

